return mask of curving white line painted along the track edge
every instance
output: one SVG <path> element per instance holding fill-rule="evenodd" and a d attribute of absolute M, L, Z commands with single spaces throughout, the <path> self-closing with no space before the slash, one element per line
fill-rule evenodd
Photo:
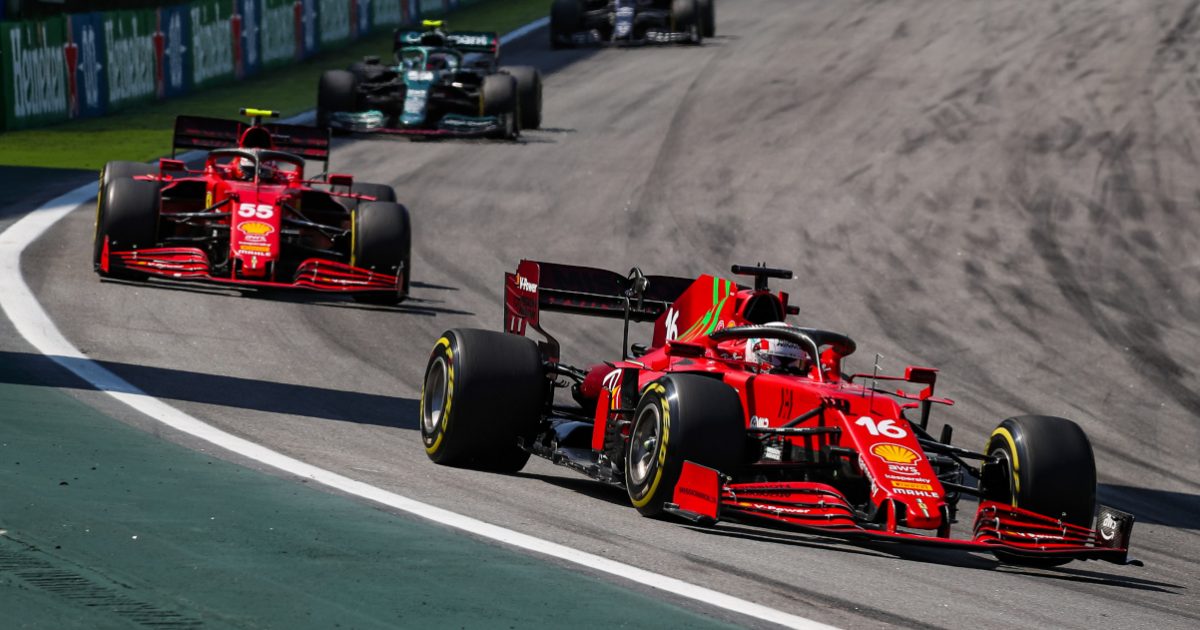
<path fill-rule="evenodd" d="M 545 23 L 539 20 L 538 23 Z M 532 25 L 530 25 L 532 26 Z M 535 30 L 539 26 L 524 26 L 512 31 L 505 37 L 521 32 L 522 35 Z M 526 30 L 528 29 L 528 30 Z M 516 37 L 510 37 L 515 40 Z M 301 114 L 302 116 L 304 114 Z M 300 118 L 300 116 L 296 116 Z M 289 121 L 295 120 L 290 119 Z M 520 547 L 534 553 L 541 553 L 560 560 L 587 566 L 589 569 L 614 575 L 617 577 L 644 584 L 680 598 L 691 599 L 724 608 L 746 617 L 776 623 L 786 628 L 800 628 L 811 630 L 832 629 L 804 617 L 790 614 L 784 611 L 762 606 L 733 595 L 727 595 L 684 582 L 674 577 L 655 574 L 644 569 L 638 569 L 629 564 L 623 564 L 608 558 L 574 550 L 557 542 L 542 540 L 540 538 L 522 534 L 512 529 L 485 523 L 469 516 L 443 510 L 408 497 L 388 492 L 385 490 L 356 481 L 348 476 L 318 468 L 301 462 L 287 455 L 272 451 L 266 446 L 256 444 L 247 439 L 227 433 L 202 420 L 191 416 L 162 401 L 139 390 L 127 380 L 88 359 L 76 348 L 62 332 L 59 331 L 50 316 L 38 304 L 34 292 L 20 274 L 20 254 L 38 236 L 46 233 L 54 223 L 67 216 L 79 205 L 96 198 L 96 184 L 80 186 L 66 194 L 62 194 L 41 208 L 25 215 L 13 223 L 8 229 L 0 233 L 0 308 L 12 322 L 17 332 L 25 338 L 34 348 L 54 362 L 70 370 L 79 378 L 83 378 L 96 389 L 121 401 L 133 409 L 149 415 L 150 418 L 184 433 L 196 436 L 205 442 L 210 442 L 227 451 L 250 457 L 272 468 L 286 473 L 311 479 L 331 488 L 340 490 L 348 494 L 354 494 L 367 500 L 402 510 L 408 514 L 427 518 L 455 529 L 468 532 L 476 536 L 496 540 Z"/>

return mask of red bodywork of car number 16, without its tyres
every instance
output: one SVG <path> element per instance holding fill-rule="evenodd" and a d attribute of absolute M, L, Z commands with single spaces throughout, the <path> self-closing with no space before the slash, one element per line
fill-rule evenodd
<path fill-rule="evenodd" d="M 516 274 L 506 274 L 505 329 L 542 334 L 544 356 L 554 364 L 558 343 L 542 330 L 540 311 L 624 317 L 629 299 L 630 320 L 654 322 L 653 343 L 641 356 L 596 365 L 576 389 L 584 408 L 594 404 L 590 448 L 596 454 L 614 431 L 628 439 L 640 392 L 666 374 L 709 373 L 738 392 L 748 433 L 764 443 L 763 458 L 754 464 L 762 474 L 739 476 L 686 462 L 668 511 L 707 523 L 749 517 L 856 538 L 1126 562 L 1127 530 L 1115 539 L 1108 526 L 1102 533 L 992 500 L 980 500 L 973 538 L 950 536 L 958 496 L 943 480 L 953 478 L 961 490 L 961 479 L 948 473 L 953 468 L 944 455 L 928 452 L 918 439 L 930 407 L 953 404 L 934 396 L 936 370 L 910 366 L 896 377 L 844 374 L 842 360 L 854 352 L 853 341 L 800 329 L 820 347 L 820 361 L 804 374 L 762 372 L 731 353 L 721 331 L 782 320 L 794 312 L 786 293 L 766 290 L 766 282 L 751 289 L 708 275 L 695 281 L 649 277 L 649 289 L 638 300 L 605 288 L 620 280 L 610 271 L 523 260 Z M 680 292 L 682 286 L 686 288 Z M 919 389 L 880 386 L 889 382 Z M 922 421 L 910 421 L 906 412 L 919 413 Z M 791 460 L 784 452 L 791 452 Z M 774 474 L 780 480 L 750 479 L 796 469 L 796 461 L 832 466 L 836 480 L 787 479 L 786 473 Z"/>

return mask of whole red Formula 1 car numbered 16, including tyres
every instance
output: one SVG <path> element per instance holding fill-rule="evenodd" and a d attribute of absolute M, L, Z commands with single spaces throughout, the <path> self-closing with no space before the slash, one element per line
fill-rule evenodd
<path fill-rule="evenodd" d="M 733 272 L 752 288 L 523 260 L 505 275 L 506 332 L 449 330 L 433 347 L 420 406 L 427 455 L 500 472 L 539 455 L 626 488 L 643 515 L 701 524 L 758 520 L 1025 565 L 1133 563 L 1133 516 L 1097 509 L 1079 425 L 1009 418 L 984 452 L 952 445 L 948 426 L 935 438 L 930 409 L 952 404 L 934 396 L 936 370 L 845 373 L 850 337 L 784 323 L 797 310 L 768 278 L 791 271 Z M 564 365 L 541 326 L 547 311 L 623 318 L 622 358 Z M 649 346 L 628 344 L 630 322 L 654 322 Z M 577 404 L 556 401 L 559 389 Z M 964 494 L 979 499 L 973 535 L 952 538 Z"/>

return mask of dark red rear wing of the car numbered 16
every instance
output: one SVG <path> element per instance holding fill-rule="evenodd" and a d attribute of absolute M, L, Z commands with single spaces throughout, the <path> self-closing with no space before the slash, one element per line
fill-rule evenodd
<path fill-rule="evenodd" d="M 504 330 L 524 335 L 541 330 L 542 311 L 654 322 L 695 278 L 644 276 L 641 300 L 630 295 L 631 281 L 616 271 L 590 266 L 521 260 L 516 274 L 504 274 Z M 548 337 L 548 336 L 547 336 Z"/>

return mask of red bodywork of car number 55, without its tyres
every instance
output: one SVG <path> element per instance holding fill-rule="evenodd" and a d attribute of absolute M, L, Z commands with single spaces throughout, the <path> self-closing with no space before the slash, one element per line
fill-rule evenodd
<path fill-rule="evenodd" d="M 299 130 L 307 127 L 179 116 L 174 145 L 212 151 L 200 169 L 163 158 L 158 174 L 134 178 L 161 182 L 158 246 L 118 250 L 106 238 L 100 270 L 322 292 L 398 290 L 407 270 L 391 275 L 354 264 L 353 209 L 373 197 L 350 193 L 349 175 L 306 180 L 305 160 L 328 161 L 329 144 L 316 130 Z M 254 162 L 253 173 L 242 173 L 244 161 Z M 268 176 L 259 163 L 272 164 L 274 173 Z M 289 251 L 289 230 L 316 254 Z"/>

